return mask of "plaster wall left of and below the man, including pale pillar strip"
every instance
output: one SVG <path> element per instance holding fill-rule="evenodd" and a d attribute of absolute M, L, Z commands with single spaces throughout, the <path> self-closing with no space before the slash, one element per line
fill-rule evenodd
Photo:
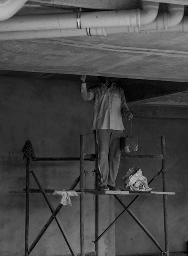
<path fill-rule="evenodd" d="M 94 153 L 91 132 L 93 104 L 80 97 L 78 82 L 70 80 L 35 80 L 0 78 L 0 255 L 24 256 L 26 160 L 21 152 L 31 140 L 37 157 L 79 157 L 80 134 L 85 136 L 85 152 Z M 94 188 L 94 162 L 86 162 L 84 187 Z M 79 162 L 31 162 L 31 170 L 44 188 L 68 189 L 79 176 Z M 31 188 L 38 188 L 33 177 Z M 76 187 L 77 189 L 79 186 Z M 9 193 L 20 191 L 21 193 Z M 61 197 L 48 194 L 54 208 Z M 80 253 L 79 198 L 71 197 L 58 217 L 76 253 Z M 101 233 L 114 219 L 114 199 L 100 197 Z M 84 197 L 85 252 L 94 251 L 94 196 Z M 51 212 L 40 193 L 30 195 L 29 246 Z M 99 242 L 100 256 L 115 256 L 115 229 Z M 31 256 L 70 254 L 55 221 L 31 252 Z"/>

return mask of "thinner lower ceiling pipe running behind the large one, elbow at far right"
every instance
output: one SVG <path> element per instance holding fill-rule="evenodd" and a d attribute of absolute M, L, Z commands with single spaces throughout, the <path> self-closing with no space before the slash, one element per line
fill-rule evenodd
<path fill-rule="evenodd" d="M 159 15 L 156 20 L 159 24 L 167 24 L 168 27 L 172 29 L 167 29 L 167 31 L 184 31 L 188 32 L 188 17 L 184 17 L 184 7 L 179 5 L 168 5 L 168 13 Z M 150 29 L 154 27 L 157 21 L 154 21 Z M 181 22 L 180 22 L 181 21 Z M 180 23 L 178 25 L 178 23 Z M 160 25 L 160 28 L 167 27 L 165 25 Z M 142 29 L 142 28 L 141 28 Z M 158 27 L 155 26 L 155 31 L 158 31 Z M 160 31 L 166 31 L 161 29 Z M 113 33 L 133 33 L 142 32 L 139 27 L 135 26 L 125 26 L 125 27 L 106 27 L 106 28 L 86 28 L 86 29 L 53 29 L 53 30 L 38 30 L 38 31 L 22 31 L 22 32 L 0 32 L 0 40 L 20 40 L 20 39 L 39 39 L 39 38 L 61 38 L 61 37 L 72 37 L 72 36 L 106 36 L 107 34 Z M 147 31 L 149 32 L 149 31 Z M 153 32 L 151 30 L 151 32 Z"/>

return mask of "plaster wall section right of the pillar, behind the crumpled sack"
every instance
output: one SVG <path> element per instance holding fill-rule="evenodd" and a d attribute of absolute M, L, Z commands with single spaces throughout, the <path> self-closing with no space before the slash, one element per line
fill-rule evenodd
<path fill-rule="evenodd" d="M 125 128 L 127 124 L 125 121 Z M 160 154 L 161 136 L 166 145 L 166 185 L 169 192 L 181 192 L 167 197 L 170 252 L 187 251 L 188 236 L 188 120 L 133 119 L 133 136 L 139 138 L 138 154 Z M 127 130 L 125 130 L 125 136 Z M 139 167 L 148 181 L 162 168 L 161 160 L 121 159 L 117 186 L 124 187 L 122 177 L 128 168 Z M 162 191 L 162 176 L 150 187 Z M 134 196 L 121 197 L 128 205 Z M 164 246 L 164 216 L 162 195 L 142 195 L 130 208 L 151 234 Z M 116 215 L 123 211 L 115 202 Z M 126 212 L 116 223 L 116 255 L 159 253 L 159 249 Z"/>

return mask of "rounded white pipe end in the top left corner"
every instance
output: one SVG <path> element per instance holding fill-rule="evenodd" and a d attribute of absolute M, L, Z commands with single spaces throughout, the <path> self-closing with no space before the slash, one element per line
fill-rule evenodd
<path fill-rule="evenodd" d="M 0 0 L 0 21 L 12 17 L 19 11 L 27 0 Z"/>

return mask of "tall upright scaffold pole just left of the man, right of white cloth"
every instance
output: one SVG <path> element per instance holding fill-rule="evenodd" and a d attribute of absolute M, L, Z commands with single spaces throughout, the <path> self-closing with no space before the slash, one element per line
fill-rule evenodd
<path fill-rule="evenodd" d="M 84 192 L 84 136 L 80 135 L 80 192 Z M 80 193 L 80 256 L 84 252 L 84 194 Z"/>

